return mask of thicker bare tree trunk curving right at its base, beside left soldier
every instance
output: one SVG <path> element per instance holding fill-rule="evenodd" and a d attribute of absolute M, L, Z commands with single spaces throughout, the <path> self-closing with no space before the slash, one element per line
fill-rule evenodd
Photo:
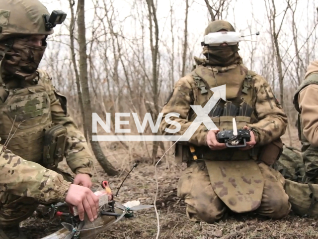
<path fill-rule="evenodd" d="M 102 166 L 104 171 L 109 176 L 117 175 L 116 169 L 109 163 L 105 157 L 98 141 L 92 140 L 92 131 L 89 126 L 92 125 L 92 109 L 89 97 L 88 87 L 88 73 L 87 73 L 87 54 L 86 54 L 86 36 L 85 36 L 85 13 L 84 13 L 84 0 L 78 2 L 78 31 L 79 31 L 79 78 L 82 86 L 83 108 L 85 109 L 85 121 L 87 123 L 86 129 L 88 132 L 89 141 L 94 152 L 94 155 Z"/>

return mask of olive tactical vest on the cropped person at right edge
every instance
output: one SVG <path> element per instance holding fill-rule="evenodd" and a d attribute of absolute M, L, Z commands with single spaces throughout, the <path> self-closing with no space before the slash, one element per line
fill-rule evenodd
<path fill-rule="evenodd" d="M 296 109 L 296 111 L 298 112 L 298 138 L 302 143 L 302 153 L 303 153 L 303 158 L 304 161 L 306 161 L 306 157 L 308 155 L 310 155 L 311 157 L 316 156 L 318 158 L 318 147 L 315 147 L 313 145 L 310 144 L 310 142 L 307 140 L 307 138 L 305 137 L 303 130 L 304 130 L 304 126 L 303 126 L 303 121 L 302 121 L 302 116 L 301 116 L 301 110 L 299 108 L 299 102 L 298 102 L 298 97 L 299 97 L 299 93 L 301 92 L 301 90 L 303 90 L 306 86 L 309 86 L 311 84 L 316 84 L 318 85 L 318 73 L 312 73 L 310 74 L 303 82 L 302 84 L 297 88 L 295 94 L 294 94 L 294 107 Z M 310 150 L 310 153 L 308 153 Z M 316 155 L 313 155 L 316 154 Z M 317 175 L 314 175 L 314 177 L 316 177 Z"/>

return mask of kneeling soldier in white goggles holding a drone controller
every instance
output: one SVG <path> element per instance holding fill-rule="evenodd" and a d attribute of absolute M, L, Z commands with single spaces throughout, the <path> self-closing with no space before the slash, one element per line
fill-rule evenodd
<path fill-rule="evenodd" d="M 208 25 L 205 35 L 234 31 L 229 22 L 216 20 Z M 178 196 L 185 201 L 191 221 L 214 223 L 228 210 L 253 211 L 273 219 L 290 212 L 285 179 L 270 167 L 282 151 L 280 137 L 287 116 L 267 81 L 242 64 L 238 51 L 238 43 L 205 44 L 205 59 L 195 58 L 195 69 L 178 80 L 162 109 L 160 132 L 182 135 L 197 117 L 191 106 L 203 108 L 214 94 L 210 89 L 226 85 L 226 101 L 220 99 L 209 116 L 220 130 L 233 129 L 233 118 L 238 129 L 251 129 L 244 147 L 230 148 L 218 142 L 219 130 L 208 130 L 204 123 L 189 141 L 176 144 L 176 160 L 187 163 L 179 179 Z M 170 117 L 180 123 L 179 132 L 165 131 L 175 129 L 164 119 L 168 113 L 180 114 Z"/>

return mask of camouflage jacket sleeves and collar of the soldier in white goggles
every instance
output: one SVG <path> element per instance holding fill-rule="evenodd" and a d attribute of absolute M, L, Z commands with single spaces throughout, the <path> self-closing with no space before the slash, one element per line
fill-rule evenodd
<path fill-rule="evenodd" d="M 247 72 L 247 68 L 242 64 L 238 66 L 238 72 L 242 75 L 242 72 Z M 206 75 L 213 76 L 211 67 L 203 67 L 202 72 L 206 72 Z M 230 69 L 235 69 L 236 67 L 223 67 L 218 68 L 217 72 L 220 72 L 223 77 L 222 84 L 218 82 L 219 85 L 227 84 L 227 82 L 233 83 L 235 75 L 229 75 L 226 77 L 227 72 Z M 240 70 L 239 70 L 240 69 Z M 212 80 L 211 82 L 215 82 Z M 214 83 L 215 84 L 215 83 Z M 216 87 L 214 85 L 209 85 L 209 88 Z M 228 87 L 228 85 L 227 85 Z M 287 116 L 282 110 L 282 107 L 276 100 L 270 86 L 267 81 L 260 75 L 254 74 L 252 76 L 252 90 L 255 92 L 254 96 L 256 99 L 253 99 L 254 105 L 253 109 L 257 118 L 257 121 L 254 123 L 249 123 L 247 126 L 253 129 L 255 134 L 256 144 L 265 145 L 269 142 L 279 138 L 285 133 L 287 127 Z M 228 99 L 228 89 L 227 89 L 227 99 Z M 195 105 L 194 102 L 199 98 L 200 91 L 198 91 L 198 85 L 193 77 L 192 72 L 181 79 L 179 79 L 175 85 L 173 92 L 167 99 L 161 113 L 163 113 L 162 121 L 160 123 L 160 132 L 163 135 L 172 135 L 164 131 L 165 128 L 174 129 L 175 126 L 168 124 L 165 121 L 165 116 L 168 113 L 177 113 L 180 114 L 179 117 L 170 117 L 170 120 L 179 122 L 181 124 L 181 129 L 173 135 L 182 135 L 182 132 L 185 132 L 190 126 L 191 121 L 189 121 L 189 112 L 192 110 L 191 105 Z M 192 135 L 189 142 L 180 141 L 180 144 L 196 145 L 196 146 L 207 146 L 206 135 L 207 128 L 205 125 L 201 124 L 196 132 Z"/>

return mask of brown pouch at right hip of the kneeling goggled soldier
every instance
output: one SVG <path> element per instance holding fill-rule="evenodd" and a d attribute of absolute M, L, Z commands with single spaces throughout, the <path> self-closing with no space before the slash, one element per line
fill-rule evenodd
<path fill-rule="evenodd" d="M 283 146 L 284 144 L 281 138 L 278 138 L 270 142 L 269 144 L 264 145 L 261 149 L 258 159 L 268 166 L 273 165 L 282 154 Z"/>

